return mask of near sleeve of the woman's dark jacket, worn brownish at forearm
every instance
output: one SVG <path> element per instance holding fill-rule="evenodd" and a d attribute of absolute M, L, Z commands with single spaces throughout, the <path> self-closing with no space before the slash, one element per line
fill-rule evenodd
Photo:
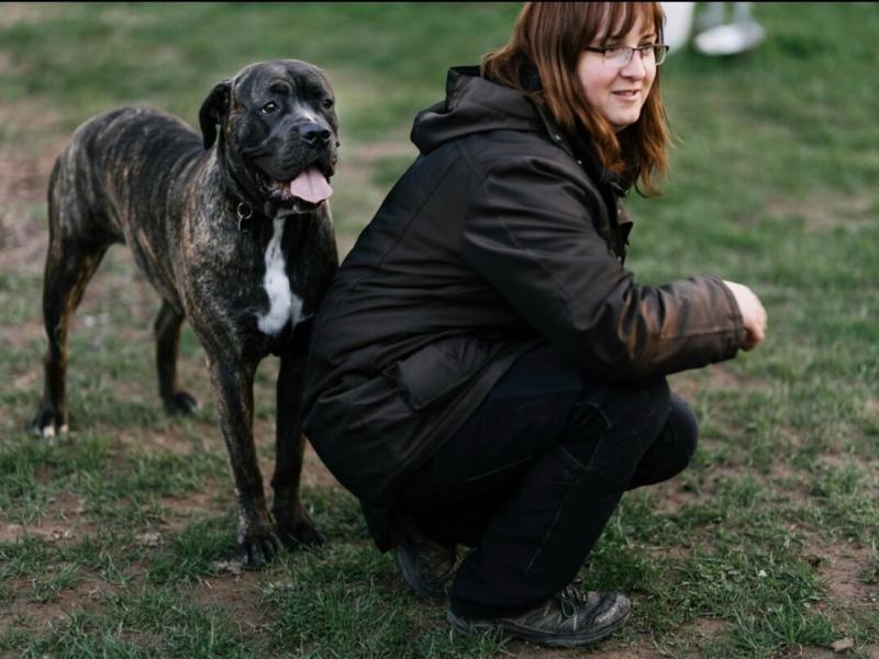
<path fill-rule="evenodd" d="M 463 258 L 563 355 L 608 381 L 637 381 L 735 356 L 745 331 L 715 277 L 639 286 L 596 230 L 589 190 L 558 163 L 511 158 L 482 181 Z"/>

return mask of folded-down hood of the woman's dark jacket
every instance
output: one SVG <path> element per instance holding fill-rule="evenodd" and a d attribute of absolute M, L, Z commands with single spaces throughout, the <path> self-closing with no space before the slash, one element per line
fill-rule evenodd
<path fill-rule="evenodd" d="M 411 139 L 426 154 L 452 139 L 501 129 L 546 132 L 526 96 L 480 77 L 478 66 L 461 66 L 448 70 L 446 100 L 415 115 Z"/>

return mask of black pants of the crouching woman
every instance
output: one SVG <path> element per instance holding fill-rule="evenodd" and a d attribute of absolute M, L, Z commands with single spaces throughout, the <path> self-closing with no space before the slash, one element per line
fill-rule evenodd
<path fill-rule="evenodd" d="M 452 610 L 512 615 L 570 583 L 625 490 L 680 472 L 692 412 L 665 379 L 593 384 L 552 348 L 520 358 L 399 504 L 437 539 L 476 547 Z"/>

